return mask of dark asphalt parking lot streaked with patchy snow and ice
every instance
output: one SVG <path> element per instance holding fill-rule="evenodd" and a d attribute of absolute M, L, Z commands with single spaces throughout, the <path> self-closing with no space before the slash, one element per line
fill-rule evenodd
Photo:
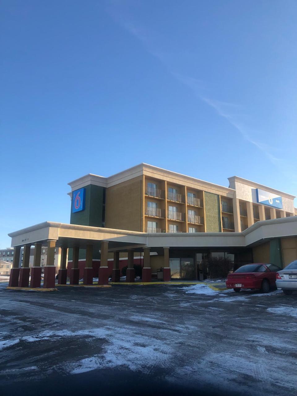
<path fill-rule="evenodd" d="M 0 284 L 0 394 L 296 394 L 297 294 Z"/>

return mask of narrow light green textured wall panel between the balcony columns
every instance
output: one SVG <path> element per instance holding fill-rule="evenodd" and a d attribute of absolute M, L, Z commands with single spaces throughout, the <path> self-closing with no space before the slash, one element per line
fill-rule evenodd
<path fill-rule="evenodd" d="M 204 192 L 206 232 L 221 232 L 220 197 L 211 192 Z"/>

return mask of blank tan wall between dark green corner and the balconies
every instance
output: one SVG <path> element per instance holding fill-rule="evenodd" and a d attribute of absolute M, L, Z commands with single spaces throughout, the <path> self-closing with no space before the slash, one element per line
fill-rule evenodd
<path fill-rule="evenodd" d="M 105 227 L 142 231 L 143 177 L 106 189 Z"/>

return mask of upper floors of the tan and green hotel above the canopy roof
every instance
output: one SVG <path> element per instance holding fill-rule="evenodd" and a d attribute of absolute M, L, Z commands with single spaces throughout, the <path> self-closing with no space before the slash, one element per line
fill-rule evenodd
<path fill-rule="evenodd" d="M 70 223 L 149 233 L 242 232 L 260 220 L 295 215 L 295 196 L 237 176 L 228 180 L 223 187 L 148 164 L 110 177 L 89 174 L 69 183 L 72 192 L 86 189 L 85 209 L 71 211 Z M 282 205 L 260 203 L 259 190 Z"/>

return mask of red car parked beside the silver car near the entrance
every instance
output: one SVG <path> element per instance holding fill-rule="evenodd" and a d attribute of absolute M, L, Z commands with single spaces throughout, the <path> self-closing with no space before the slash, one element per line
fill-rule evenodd
<path fill-rule="evenodd" d="M 266 263 L 243 265 L 228 274 L 226 286 L 237 292 L 240 289 L 261 289 L 263 293 L 268 293 L 270 288 L 276 287 L 276 272 L 280 269 L 274 264 Z"/>

